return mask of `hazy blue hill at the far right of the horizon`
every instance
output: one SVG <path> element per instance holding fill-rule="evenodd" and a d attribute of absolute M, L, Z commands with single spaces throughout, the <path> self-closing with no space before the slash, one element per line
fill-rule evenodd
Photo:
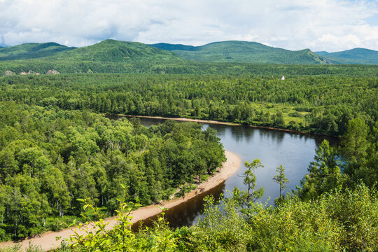
<path fill-rule="evenodd" d="M 338 64 L 378 64 L 378 51 L 365 48 L 316 53 Z"/>

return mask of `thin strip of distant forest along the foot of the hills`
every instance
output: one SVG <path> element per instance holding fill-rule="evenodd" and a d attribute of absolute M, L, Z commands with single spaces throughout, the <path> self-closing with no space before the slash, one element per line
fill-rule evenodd
<path fill-rule="evenodd" d="M 104 55 L 102 57 L 107 57 Z M 377 76 L 378 66 L 361 65 L 288 65 L 288 64 L 248 64 L 212 62 L 154 62 L 132 60 L 130 62 L 101 62 L 74 60 L 17 60 L 1 62 L 0 76 L 30 73 L 44 74 L 49 70 L 59 73 L 174 73 L 174 74 L 250 74 L 252 76 Z"/>

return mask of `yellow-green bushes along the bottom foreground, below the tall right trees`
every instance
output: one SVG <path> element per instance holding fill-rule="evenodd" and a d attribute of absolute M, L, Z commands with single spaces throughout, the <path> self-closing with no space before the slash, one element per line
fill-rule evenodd
<path fill-rule="evenodd" d="M 353 190 L 330 190 L 313 201 L 288 198 L 274 209 L 260 203 L 247 223 L 233 199 L 206 200 L 197 225 L 170 230 L 164 214 L 153 228 L 130 232 L 130 207 L 121 200 L 120 223 L 105 230 L 84 228 L 70 251 L 377 251 L 378 193 L 363 184 Z M 90 204 L 92 215 L 97 210 Z M 124 210 L 122 210 L 124 209 Z M 123 214 L 122 214 L 123 213 Z M 164 213 L 164 211 L 163 211 Z M 78 231 L 79 232 L 79 231 Z M 6 250 L 1 251 L 17 251 Z M 65 250 L 63 250 L 65 249 Z M 37 250 L 34 250 L 37 251 Z M 68 251 L 66 245 L 60 251 Z"/>

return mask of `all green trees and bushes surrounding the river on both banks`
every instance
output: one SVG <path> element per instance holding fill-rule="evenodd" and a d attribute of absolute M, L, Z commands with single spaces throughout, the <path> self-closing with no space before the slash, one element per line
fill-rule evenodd
<path fill-rule="evenodd" d="M 149 73 L 0 78 L 0 237 L 56 230 L 74 218 L 99 219 L 101 229 L 104 216 L 118 213 L 113 231 L 73 237 L 77 245 L 60 250 L 377 251 L 378 81 L 372 67 L 358 69 L 363 74 L 283 81 Z M 213 171 L 223 148 L 214 131 L 196 124 L 147 129 L 93 112 L 284 127 L 336 135 L 342 144 L 324 141 L 300 187 L 282 193 L 274 208 L 258 202 L 253 169 L 260 164 L 253 160 L 247 165 L 257 166 L 244 174 L 251 190 L 235 190 L 221 204 L 209 198 L 197 225 L 172 230 L 161 216 L 153 228 L 132 233 L 127 213 L 134 204 L 167 199 Z M 275 177 L 280 191 L 283 169 Z M 248 195 L 246 205 L 240 199 Z"/>

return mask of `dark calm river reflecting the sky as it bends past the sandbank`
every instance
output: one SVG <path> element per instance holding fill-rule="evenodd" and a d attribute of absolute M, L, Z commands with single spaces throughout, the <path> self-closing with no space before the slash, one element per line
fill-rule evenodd
<path fill-rule="evenodd" d="M 165 120 L 141 118 L 141 124 L 149 127 L 158 125 Z M 218 198 L 221 193 L 228 197 L 227 191 L 232 191 L 236 187 L 241 190 L 246 189 L 243 179 L 238 176 L 243 174 L 244 161 L 252 162 L 253 159 L 260 159 L 263 168 L 258 168 L 255 172 L 257 187 L 262 186 L 265 190 L 264 197 L 260 200 L 268 204 L 274 204 L 274 199 L 279 197 L 279 185 L 274 183 L 273 176 L 276 175 L 276 167 L 282 165 L 286 169 L 286 177 L 290 181 L 284 193 L 295 190 L 296 185 L 305 174 L 309 162 L 314 159 L 315 149 L 321 144 L 323 139 L 330 141 L 332 146 L 337 141 L 332 138 L 283 132 L 279 130 L 267 130 L 246 126 L 230 126 L 217 124 L 203 124 L 203 129 L 211 127 L 217 130 L 218 137 L 227 151 L 236 153 L 241 158 L 241 166 L 236 174 L 232 175 L 224 183 L 202 195 L 198 195 L 188 202 L 184 202 L 177 207 L 169 209 L 166 217 L 169 224 L 176 228 L 183 225 L 193 225 L 201 217 L 204 197 L 214 195 Z M 151 219 L 144 221 L 146 225 L 151 223 Z"/>

